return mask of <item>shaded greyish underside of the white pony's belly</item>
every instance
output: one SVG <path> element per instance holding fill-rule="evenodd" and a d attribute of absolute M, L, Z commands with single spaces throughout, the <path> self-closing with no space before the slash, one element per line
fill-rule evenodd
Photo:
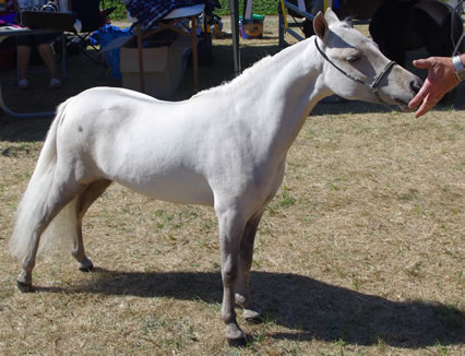
<path fill-rule="evenodd" d="M 122 186 L 150 198 L 171 203 L 213 206 L 213 192 L 206 182 L 195 179 L 154 178 L 150 180 L 116 180 Z"/>

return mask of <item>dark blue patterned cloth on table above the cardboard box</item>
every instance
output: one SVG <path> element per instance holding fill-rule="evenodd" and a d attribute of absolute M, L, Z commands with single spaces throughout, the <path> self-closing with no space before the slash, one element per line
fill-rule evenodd
<path fill-rule="evenodd" d="M 220 8 L 217 0 L 130 0 L 126 8 L 130 15 L 138 19 L 142 27 L 147 29 L 172 10 L 199 3 L 205 4 L 206 13 L 211 13 L 215 8 Z"/>

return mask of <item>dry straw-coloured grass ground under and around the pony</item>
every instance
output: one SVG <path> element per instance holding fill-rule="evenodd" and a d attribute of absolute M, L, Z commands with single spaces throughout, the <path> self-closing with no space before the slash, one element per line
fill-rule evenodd
<path fill-rule="evenodd" d="M 275 33 L 265 37 L 246 43 L 246 61 L 275 50 Z M 203 69 L 214 81 L 230 75 L 226 45 Z M 8 240 L 49 120 L 1 116 L 0 354 L 463 355 L 464 108 L 463 85 L 454 109 L 420 120 L 360 103 L 315 108 L 257 238 L 252 294 L 267 317 L 245 325 L 243 349 L 224 341 L 212 211 L 116 185 L 85 219 L 97 271 L 40 257 L 37 293 L 21 294 Z"/>

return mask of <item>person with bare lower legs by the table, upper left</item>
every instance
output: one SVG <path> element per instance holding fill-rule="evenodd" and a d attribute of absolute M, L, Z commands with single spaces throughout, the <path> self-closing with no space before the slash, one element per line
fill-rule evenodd
<path fill-rule="evenodd" d="M 35 2 L 36 1 L 32 0 L 17 0 L 15 10 L 31 9 Z M 41 1 L 41 4 L 45 2 L 46 1 Z M 31 51 L 34 45 L 37 47 L 37 50 L 50 73 L 49 87 L 58 88 L 61 86 L 61 80 L 58 78 L 57 66 L 55 62 L 55 51 L 51 46 L 51 43 L 56 37 L 57 34 L 25 35 L 16 37 L 16 54 L 20 75 L 17 87 L 20 90 L 26 90 L 29 86 L 27 81 L 27 67 L 29 64 Z"/>

